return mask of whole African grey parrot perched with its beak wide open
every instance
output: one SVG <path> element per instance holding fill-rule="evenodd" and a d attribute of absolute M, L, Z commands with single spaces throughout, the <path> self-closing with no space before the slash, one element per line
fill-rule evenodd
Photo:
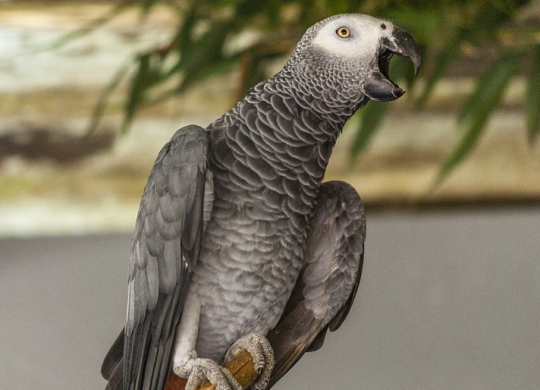
<path fill-rule="evenodd" d="M 404 30 L 344 14 L 307 30 L 283 70 L 206 129 L 186 126 L 154 164 L 137 216 L 127 322 L 103 362 L 108 389 L 240 389 L 222 367 L 246 349 L 268 389 L 337 329 L 362 269 L 356 191 L 322 183 L 345 122 L 403 90 L 393 54 L 420 65 Z"/>

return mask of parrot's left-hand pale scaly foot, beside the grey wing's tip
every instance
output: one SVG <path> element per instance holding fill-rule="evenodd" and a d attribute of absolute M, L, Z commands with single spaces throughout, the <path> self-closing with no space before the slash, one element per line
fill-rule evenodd
<path fill-rule="evenodd" d="M 174 367 L 173 371 L 179 377 L 187 378 L 185 390 L 198 390 L 206 380 L 216 390 L 243 390 L 229 370 L 212 359 L 198 358 L 195 354 L 183 366 Z"/>

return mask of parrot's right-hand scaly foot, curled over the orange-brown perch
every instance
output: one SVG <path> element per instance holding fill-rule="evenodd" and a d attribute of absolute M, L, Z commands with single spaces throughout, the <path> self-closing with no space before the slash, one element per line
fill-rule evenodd
<path fill-rule="evenodd" d="M 274 350 L 267 338 L 260 334 L 250 334 L 237 340 L 227 351 L 225 361 L 229 362 L 240 350 L 245 349 L 253 358 L 253 366 L 259 374 L 259 379 L 250 388 L 264 390 L 268 386 L 274 370 Z"/>

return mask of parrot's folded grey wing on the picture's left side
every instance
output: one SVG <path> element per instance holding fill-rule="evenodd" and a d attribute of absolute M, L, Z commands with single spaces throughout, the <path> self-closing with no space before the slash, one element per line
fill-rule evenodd
<path fill-rule="evenodd" d="M 174 333 L 199 256 L 205 215 L 209 136 L 199 126 L 178 130 L 159 153 L 141 200 L 132 241 L 127 320 L 105 357 L 109 388 L 165 386 Z M 210 189 L 211 190 L 211 189 Z M 105 375 L 104 375 L 105 376 Z"/>

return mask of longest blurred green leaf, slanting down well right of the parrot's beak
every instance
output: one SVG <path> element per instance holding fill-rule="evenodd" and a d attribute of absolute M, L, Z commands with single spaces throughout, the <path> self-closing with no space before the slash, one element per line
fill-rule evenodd
<path fill-rule="evenodd" d="M 440 169 L 437 183 L 440 183 L 476 145 L 510 79 L 518 70 L 523 55 L 523 52 L 507 54 L 493 63 L 482 75 L 458 118 L 457 124 L 465 128 L 465 133 Z"/>

